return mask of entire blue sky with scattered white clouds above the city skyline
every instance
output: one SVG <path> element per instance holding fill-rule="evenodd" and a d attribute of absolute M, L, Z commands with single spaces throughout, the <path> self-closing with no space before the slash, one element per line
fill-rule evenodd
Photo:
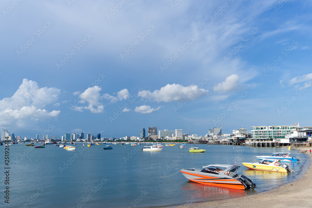
<path fill-rule="evenodd" d="M 312 2 L 0 3 L 0 128 L 206 135 L 312 126 Z"/>

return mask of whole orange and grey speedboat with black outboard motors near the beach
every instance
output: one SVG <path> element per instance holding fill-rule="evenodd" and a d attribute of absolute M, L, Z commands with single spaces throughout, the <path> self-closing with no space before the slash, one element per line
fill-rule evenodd
<path fill-rule="evenodd" d="M 244 175 L 238 174 L 240 166 L 235 165 L 207 165 L 204 169 L 188 168 L 180 172 L 190 181 L 233 189 L 244 190 L 255 188 L 256 184 Z"/>

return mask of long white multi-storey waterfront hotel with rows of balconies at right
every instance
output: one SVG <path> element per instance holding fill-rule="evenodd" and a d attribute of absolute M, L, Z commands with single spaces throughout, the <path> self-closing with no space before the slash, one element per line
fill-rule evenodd
<path fill-rule="evenodd" d="M 251 140 L 256 139 L 283 139 L 286 134 L 300 128 L 299 123 L 295 125 L 282 125 L 282 126 L 251 126 Z"/>

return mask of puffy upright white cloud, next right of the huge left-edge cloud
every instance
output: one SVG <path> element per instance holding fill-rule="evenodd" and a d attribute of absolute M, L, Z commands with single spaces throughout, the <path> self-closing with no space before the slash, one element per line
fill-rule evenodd
<path fill-rule="evenodd" d="M 83 109 L 88 109 L 92 113 L 102 113 L 104 111 L 104 106 L 100 103 L 101 90 L 102 88 L 99 86 L 89 87 L 79 95 L 79 102 L 88 103 L 88 106 L 72 106 L 72 109 L 80 112 L 83 111 Z"/>

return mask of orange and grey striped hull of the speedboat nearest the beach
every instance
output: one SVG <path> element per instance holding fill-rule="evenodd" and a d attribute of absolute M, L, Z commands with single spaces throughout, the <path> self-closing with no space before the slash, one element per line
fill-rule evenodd
<path fill-rule="evenodd" d="M 238 179 L 235 179 L 232 177 L 211 176 L 211 175 L 203 174 L 200 171 L 190 171 L 186 169 L 182 169 L 180 170 L 180 172 L 188 180 L 193 181 L 193 182 L 207 184 L 211 186 L 217 186 L 217 187 L 227 187 L 227 188 L 240 189 L 240 190 L 246 189 L 246 186 L 243 183 L 241 183 Z"/>

